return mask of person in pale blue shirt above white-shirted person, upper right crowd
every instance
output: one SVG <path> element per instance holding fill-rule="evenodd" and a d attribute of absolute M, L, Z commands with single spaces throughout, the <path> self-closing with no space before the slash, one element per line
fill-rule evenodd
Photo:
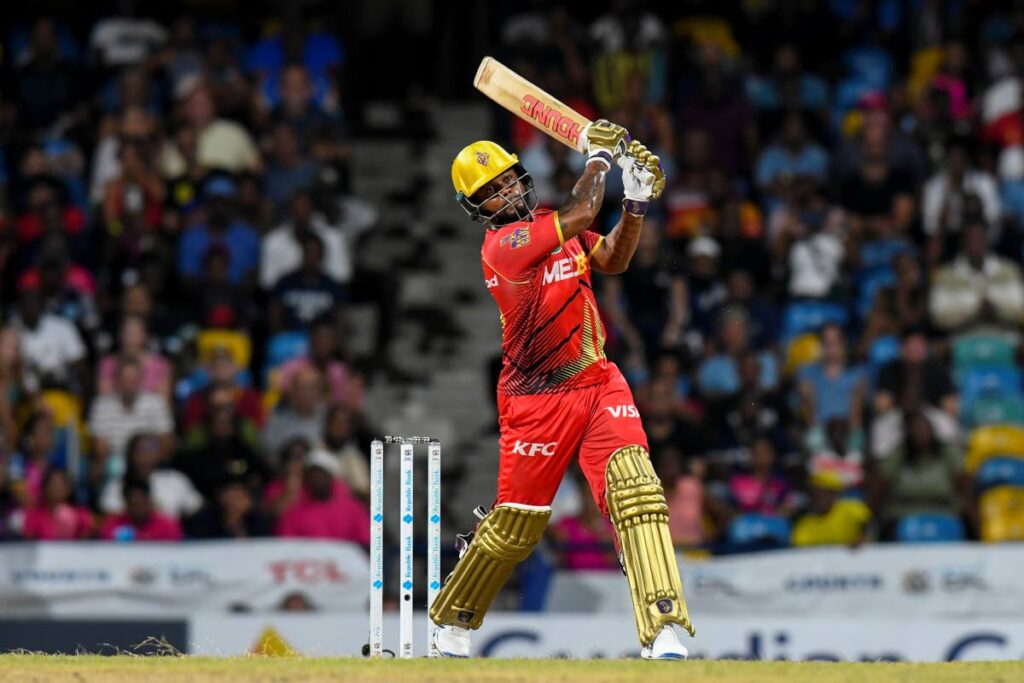
<path fill-rule="evenodd" d="M 800 114 L 786 115 L 778 141 L 761 153 L 757 164 L 757 183 L 768 211 L 788 197 L 802 195 L 808 184 L 823 185 L 827 174 L 828 155 L 808 139 Z"/>

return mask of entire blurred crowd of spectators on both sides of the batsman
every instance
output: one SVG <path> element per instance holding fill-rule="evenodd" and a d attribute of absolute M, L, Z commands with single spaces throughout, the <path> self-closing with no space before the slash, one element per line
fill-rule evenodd
<path fill-rule="evenodd" d="M 666 168 L 596 284 L 677 546 L 1024 539 L 1024 2 L 677 5 L 492 23 Z M 365 390 L 408 378 L 346 46 L 190 16 L 0 39 L 0 537 L 366 543 Z M 557 207 L 583 158 L 497 121 Z M 581 482 L 552 547 L 613 568 Z"/>

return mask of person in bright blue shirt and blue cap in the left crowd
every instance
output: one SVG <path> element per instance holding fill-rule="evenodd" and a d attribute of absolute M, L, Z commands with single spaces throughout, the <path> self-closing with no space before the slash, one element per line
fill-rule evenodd
<path fill-rule="evenodd" d="M 237 286 L 255 284 L 259 234 L 237 218 L 234 195 L 234 182 L 226 176 L 215 176 L 207 182 L 204 188 L 206 223 L 186 229 L 178 245 L 178 273 L 185 280 L 195 281 L 202 274 L 207 250 L 220 244 L 230 256 L 230 283 Z"/>

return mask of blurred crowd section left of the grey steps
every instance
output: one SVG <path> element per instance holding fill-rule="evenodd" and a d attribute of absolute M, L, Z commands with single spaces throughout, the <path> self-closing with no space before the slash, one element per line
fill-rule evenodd
<path fill-rule="evenodd" d="M 396 283 L 359 258 L 345 51 L 239 26 L 5 28 L 0 538 L 368 543 Z"/>

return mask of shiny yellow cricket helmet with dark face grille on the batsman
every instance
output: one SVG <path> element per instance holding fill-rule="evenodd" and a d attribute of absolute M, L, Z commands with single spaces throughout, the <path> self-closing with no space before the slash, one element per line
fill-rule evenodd
<path fill-rule="evenodd" d="M 519 182 L 518 195 L 503 196 L 504 206 L 489 215 L 480 212 L 480 206 L 489 198 L 471 198 L 480 187 L 514 168 Z M 519 158 L 490 140 L 478 140 L 462 148 L 452 162 L 452 184 L 455 199 L 470 218 L 481 223 L 502 225 L 516 220 L 527 220 L 537 208 L 534 180 L 519 163 Z"/>

